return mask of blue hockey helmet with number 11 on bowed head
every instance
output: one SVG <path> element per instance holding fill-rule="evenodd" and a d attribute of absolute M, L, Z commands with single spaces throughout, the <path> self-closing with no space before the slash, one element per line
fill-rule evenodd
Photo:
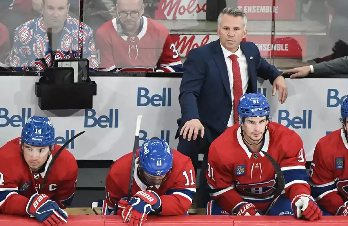
<path fill-rule="evenodd" d="M 162 176 L 168 173 L 173 166 L 173 152 L 167 142 L 147 140 L 139 151 L 141 168 L 151 176 Z"/>

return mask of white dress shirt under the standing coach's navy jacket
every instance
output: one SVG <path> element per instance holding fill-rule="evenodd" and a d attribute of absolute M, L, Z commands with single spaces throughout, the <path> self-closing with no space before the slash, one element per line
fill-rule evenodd
<path fill-rule="evenodd" d="M 221 43 L 220 43 L 221 45 Z M 246 62 L 246 58 L 242 50 L 240 49 L 240 46 L 238 50 L 235 53 L 232 53 L 228 51 L 225 47 L 221 45 L 223 56 L 226 61 L 227 65 L 227 72 L 228 72 L 228 78 L 230 80 L 230 88 L 231 88 L 231 97 L 232 97 L 232 104 L 234 101 L 234 95 L 233 95 L 233 72 L 232 72 L 232 60 L 229 58 L 230 55 L 237 55 L 238 57 L 238 63 L 240 68 L 240 75 L 242 76 L 242 86 L 243 86 L 243 93 L 246 92 L 246 89 L 248 88 L 248 82 L 249 82 L 249 73 L 248 73 L 248 64 Z M 230 119 L 228 120 L 227 127 L 231 127 L 234 124 L 234 106 L 232 106 L 232 111 L 230 115 Z"/>

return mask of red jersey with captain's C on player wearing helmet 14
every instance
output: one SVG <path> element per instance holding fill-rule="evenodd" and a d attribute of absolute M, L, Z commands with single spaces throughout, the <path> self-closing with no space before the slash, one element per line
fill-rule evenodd
<path fill-rule="evenodd" d="M 25 162 L 19 138 L 9 141 L 0 149 L 0 213 L 27 216 L 29 198 L 38 193 L 47 167 L 56 152 L 55 145 L 42 172 L 32 172 Z M 74 156 L 64 149 L 49 171 L 48 180 L 42 191 L 60 208 L 71 204 L 76 189 L 77 163 Z"/>

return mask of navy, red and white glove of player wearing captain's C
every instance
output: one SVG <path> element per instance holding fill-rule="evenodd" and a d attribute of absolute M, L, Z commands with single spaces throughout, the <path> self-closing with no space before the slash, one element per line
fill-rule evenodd
<path fill-rule="evenodd" d="M 67 223 L 68 214 L 45 194 L 34 194 L 26 205 L 26 212 L 45 225 Z"/>

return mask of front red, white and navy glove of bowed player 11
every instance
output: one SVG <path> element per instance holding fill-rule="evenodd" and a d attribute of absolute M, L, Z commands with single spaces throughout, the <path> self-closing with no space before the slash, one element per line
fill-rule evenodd
<path fill-rule="evenodd" d="M 161 206 L 161 199 L 155 191 L 138 191 L 132 197 L 122 211 L 123 222 L 128 222 L 129 226 L 141 226 L 147 218 L 147 214 Z"/>

